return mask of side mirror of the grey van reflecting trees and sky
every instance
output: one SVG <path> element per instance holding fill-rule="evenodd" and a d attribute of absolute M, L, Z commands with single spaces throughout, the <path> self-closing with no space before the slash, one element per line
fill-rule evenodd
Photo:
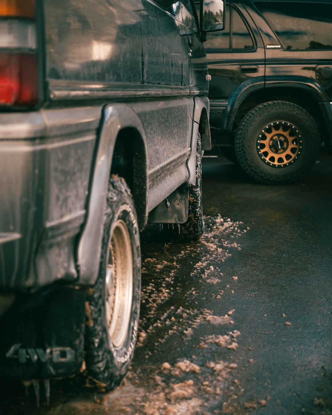
<path fill-rule="evenodd" d="M 218 32 L 224 29 L 226 0 L 200 0 L 201 32 Z"/>

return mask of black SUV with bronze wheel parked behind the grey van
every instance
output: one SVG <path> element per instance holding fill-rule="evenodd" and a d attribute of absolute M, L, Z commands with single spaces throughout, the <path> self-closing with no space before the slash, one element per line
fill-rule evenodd
<path fill-rule="evenodd" d="M 232 0 L 207 34 L 212 146 L 262 183 L 291 183 L 332 139 L 332 2 Z"/>

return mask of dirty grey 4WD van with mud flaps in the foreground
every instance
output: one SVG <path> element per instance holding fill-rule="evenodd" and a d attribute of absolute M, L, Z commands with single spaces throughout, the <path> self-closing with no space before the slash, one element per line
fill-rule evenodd
<path fill-rule="evenodd" d="M 203 40 L 224 1 L 200 5 L 199 23 L 191 0 L 1 2 L 0 376 L 86 370 L 115 388 L 137 339 L 139 230 L 203 233 Z"/>

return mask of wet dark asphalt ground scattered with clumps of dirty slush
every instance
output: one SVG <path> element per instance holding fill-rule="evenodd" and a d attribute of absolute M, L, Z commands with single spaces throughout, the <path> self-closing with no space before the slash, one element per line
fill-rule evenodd
<path fill-rule="evenodd" d="M 208 154 L 206 154 L 208 155 Z M 2 383 L 0 414 L 332 414 L 332 156 L 300 183 L 203 159 L 205 234 L 142 234 L 139 343 L 122 385 Z"/>

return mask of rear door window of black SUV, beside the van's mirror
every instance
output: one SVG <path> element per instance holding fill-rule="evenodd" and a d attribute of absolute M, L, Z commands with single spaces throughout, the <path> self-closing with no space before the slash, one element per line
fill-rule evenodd
<path fill-rule="evenodd" d="M 234 7 L 226 5 L 225 9 L 225 30 L 222 32 L 207 33 L 207 41 L 204 43 L 205 49 L 253 49 L 249 29 L 242 16 Z"/>

